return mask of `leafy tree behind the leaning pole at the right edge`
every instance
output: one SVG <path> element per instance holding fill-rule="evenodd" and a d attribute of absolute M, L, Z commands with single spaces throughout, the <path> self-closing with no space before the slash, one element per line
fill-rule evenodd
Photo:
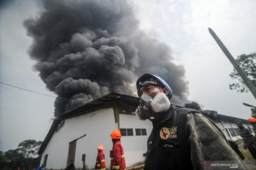
<path fill-rule="evenodd" d="M 236 59 L 236 62 L 238 62 L 239 66 L 245 72 L 248 79 L 252 81 L 252 84 L 256 86 L 256 53 L 252 53 L 250 55 L 240 55 Z M 245 82 L 242 80 L 238 72 L 233 69 L 233 72 L 231 72 L 230 77 L 232 79 L 237 79 L 238 83 L 230 84 L 231 90 L 237 90 L 238 92 L 247 92 L 247 86 L 245 85 Z"/>

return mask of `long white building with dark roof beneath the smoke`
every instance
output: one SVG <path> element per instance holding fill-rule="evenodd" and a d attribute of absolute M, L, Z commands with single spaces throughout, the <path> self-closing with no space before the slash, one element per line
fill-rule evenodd
<path fill-rule="evenodd" d="M 85 166 L 94 169 L 97 145 L 103 145 L 106 167 L 110 168 L 110 133 L 116 129 L 122 132 L 121 142 L 127 166 L 144 161 L 146 140 L 152 125 L 149 120 L 137 118 L 134 111 L 138 104 L 139 98 L 108 94 L 61 115 L 53 121 L 41 145 L 41 164 L 46 169 L 65 169 L 73 163 L 76 169 L 82 169 L 82 160 L 85 160 Z M 234 123 L 236 119 L 239 118 L 218 115 L 213 120 L 229 140 L 238 140 L 238 128 Z M 245 127 L 248 126 L 247 120 L 242 122 Z"/>

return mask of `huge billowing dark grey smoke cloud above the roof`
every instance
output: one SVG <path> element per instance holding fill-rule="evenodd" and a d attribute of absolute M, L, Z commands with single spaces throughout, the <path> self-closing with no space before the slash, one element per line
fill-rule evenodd
<path fill-rule="evenodd" d="M 134 95 L 134 82 L 145 73 L 159 74 L 174 101 L 186 101 L 185 69 L 138 24 L 132 4 L 119 0 L 46 0 L 37 18 L 24 21 L 41 79 L 69 99 L 55 100 L 55 116 L 110 92 Z"/>

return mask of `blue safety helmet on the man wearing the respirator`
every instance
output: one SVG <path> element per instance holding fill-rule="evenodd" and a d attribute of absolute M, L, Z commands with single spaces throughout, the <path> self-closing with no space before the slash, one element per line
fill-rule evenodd
<path fill-rule="evenodd" d="M 157 74 L 143 74 L 136 82 L 137 90 L 141 88 L 141 86 L 144 86 L 144 83 L 149 82 L 148 84 L 156 84 L 158 86 L 161 86 L 162 88 L 166 87 L 169 90 L 169 99 L 172 96 L 172 90 L 171 87 Z"/>

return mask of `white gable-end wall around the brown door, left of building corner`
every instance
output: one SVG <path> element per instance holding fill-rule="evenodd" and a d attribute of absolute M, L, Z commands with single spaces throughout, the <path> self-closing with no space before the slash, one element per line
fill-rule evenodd
<path fill-rule="evenodd" d="M 75 168 L 82 169 L 82 154 L 85 154 L 85 164 L 90 169 L 95 166 L 97 145 L 105 147 L 106 165 L 110 165 L 109 151 L 112 149 L 110 132 L 115 129 L 113 109 L 101 109 L 85 115 L 65 120 L 63 128 L 56 132 L 48 142 L 43 157 L 48 154 L 46 169 L 64 169 L 68 160 L 69 142 L 77 140 L 75 151 Z"/>

